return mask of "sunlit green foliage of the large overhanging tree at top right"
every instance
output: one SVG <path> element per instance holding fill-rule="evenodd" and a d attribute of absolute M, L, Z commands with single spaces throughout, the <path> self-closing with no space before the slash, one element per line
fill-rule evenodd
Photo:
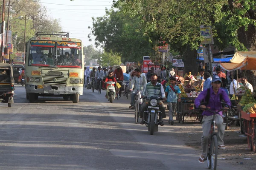
<path fill-rule="evenodd" d="M 215 44 L 220 48 L 229 44 L 241 51 L 256 47 L 249 36 L 256 33 L 255 0 L 114 0 L 113 6 L 122 6 L 123 13 L 137 18 L 151 42 L 162 37 L 180 52 L 186 45 L 198 48 L 203 39 L 201 25 L 212 26 Z M 244 37 L 246 40 L 242 40 Z"/>

